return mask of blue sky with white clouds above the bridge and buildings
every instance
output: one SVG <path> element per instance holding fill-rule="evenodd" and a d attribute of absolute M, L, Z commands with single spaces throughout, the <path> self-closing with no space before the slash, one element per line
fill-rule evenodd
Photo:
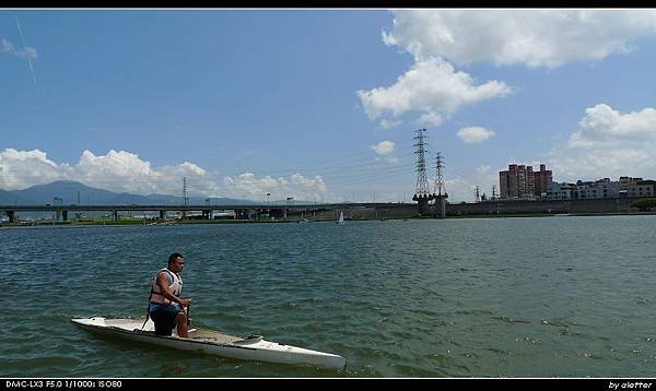
<path fill-rule="evenodd" d="M 409 200 L 420 127 L 452 201 L 655 177 L 652 10 L 3 10 L 0 44 L 3 190 Z"/>

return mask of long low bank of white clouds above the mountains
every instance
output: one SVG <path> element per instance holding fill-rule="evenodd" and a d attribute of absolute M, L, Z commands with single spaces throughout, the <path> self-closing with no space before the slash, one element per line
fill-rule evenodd
<path fill-rule="evenodd" d="M 138 154 L 110 150 L 105 155 L 82 152 L 77 164 L 56 163 L 39 150 L 0 151 L 0 189 L 19 190 L 56 180 L 74 180 L 94 188 L 137 194 L 181 196 L 183 178 L 187 178 L 191 197 L 245 197 L 261 201 L 271 197 L 312 201 L 327 194 L 320 176 L 294 174 L 285 178 L 256 177 L 251 173 L 218 178 L 198 165 L 184 162 L 154 167 Z"/>

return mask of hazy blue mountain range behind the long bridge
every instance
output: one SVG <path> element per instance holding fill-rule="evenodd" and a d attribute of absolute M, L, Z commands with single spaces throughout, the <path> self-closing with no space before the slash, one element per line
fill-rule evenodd
<path fill-rule="evenodd" d="M 0 205 L 43 205 L 55 204 L 55 198 L 61 199 L 61 204 L 81 205 L 168 205 L 184 203 L 181 197 L 165 194 L 131 194 L 116 193 L 108 190 L 96 189 L 80 182 L 60 180 L 48 185 L 37 185 L 23 190 L 0 190 Z M 190 197 L 189 204 L 204 205 L 206 198 Z M 59 201 L 57 201 L 59 203 Z M 231 198 L 211 198 L 212 205 L 226 204 L 254 204 L 250 200 Z M 274 201 L 271 201 L 274 204 Z"/>

